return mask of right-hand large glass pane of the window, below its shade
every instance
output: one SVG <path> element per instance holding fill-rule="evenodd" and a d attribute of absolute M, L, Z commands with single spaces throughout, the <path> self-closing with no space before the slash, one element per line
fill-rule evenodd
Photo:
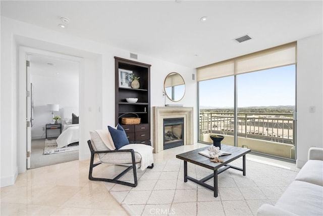
<path fill-rule="evenodd" d="M 238 146 L 295 158 L 295 65 L 237 75 Z"/>

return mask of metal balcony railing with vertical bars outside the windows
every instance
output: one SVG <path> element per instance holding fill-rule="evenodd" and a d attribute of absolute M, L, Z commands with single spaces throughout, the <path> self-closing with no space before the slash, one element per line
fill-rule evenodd
<path fill-rule="evenodd" d="M 239 137 L 293 145 L 292 113 L 238 113 Z M 234 113 L 200 112 L 200 134 L 234 135 Z"/>

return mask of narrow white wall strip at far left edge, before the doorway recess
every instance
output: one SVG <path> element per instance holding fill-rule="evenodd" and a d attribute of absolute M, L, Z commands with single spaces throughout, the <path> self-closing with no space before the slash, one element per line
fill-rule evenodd
<path fill-rule="evenodd" d="M 18 176 L 17 46 L 11 32 L 1 28 L 1 185 L 11 185 Z"/>

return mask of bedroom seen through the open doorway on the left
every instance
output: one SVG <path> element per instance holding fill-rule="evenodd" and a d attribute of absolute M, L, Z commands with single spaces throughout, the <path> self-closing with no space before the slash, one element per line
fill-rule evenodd
<path fill-rule="evenodd" d="M 29 55 L 29 59 L 34 119 L 29 168 L 78 160 L 78 118 L 72 124 L 72 113 L 79 115 L 79 64 L 63 56 Z M 61 118 L 58 124 L 52 124 L 53 116 Z"/>

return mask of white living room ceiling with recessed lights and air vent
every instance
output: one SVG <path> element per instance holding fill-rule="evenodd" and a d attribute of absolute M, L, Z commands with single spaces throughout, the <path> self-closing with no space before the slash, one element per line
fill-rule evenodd
<path fill-rule="evenodd" d="M 190 68 L 322 33 L 322 11 L 322 1 L 1 1 L 2 16 Z"/>

